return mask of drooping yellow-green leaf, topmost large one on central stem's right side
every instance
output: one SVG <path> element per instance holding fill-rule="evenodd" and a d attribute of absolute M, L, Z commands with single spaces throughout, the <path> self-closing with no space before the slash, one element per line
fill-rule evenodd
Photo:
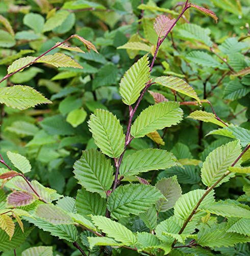
<path fill-rule="evenodd" d="M 161 84 L 164 87 L 170 88 L 171 90 L 180 92 L 191 98 L 194 98 L 198 101 L 200 105 L 202 104 L 194 89 L 189 86 L 187 82 L 178 77 L 160 76 L 155 79 L 155 82 Z"/>

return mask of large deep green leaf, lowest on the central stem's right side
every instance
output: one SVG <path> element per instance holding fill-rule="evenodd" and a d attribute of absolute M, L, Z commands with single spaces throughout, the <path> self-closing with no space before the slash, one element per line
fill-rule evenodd
<path fill-rule="evenodd" d="M 107 208 L 116 219 L 139 215 L 163 198 L 158 189 L 149 185 L 128 184 L 119 186 L 108 197 Z"/>

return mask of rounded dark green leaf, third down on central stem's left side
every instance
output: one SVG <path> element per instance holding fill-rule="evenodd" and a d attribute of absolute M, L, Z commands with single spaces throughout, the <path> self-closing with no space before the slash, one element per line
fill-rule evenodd
<path fill-rule="evenodd" d="M 101 152 L 91 148 L 83 151 L 73 168 L 76 178 L 86 190 L 106 197 L 106 192 L 113 183 L 113 167 L 110 159 L 106 159 Z"/>

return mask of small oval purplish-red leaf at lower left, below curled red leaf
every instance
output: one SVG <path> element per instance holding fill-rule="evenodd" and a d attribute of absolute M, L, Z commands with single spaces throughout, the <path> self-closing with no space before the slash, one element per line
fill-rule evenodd
<path fill-rule="evenodd" d="M 26 191 L 15 191 L 7 198 L 7 203 L 11 206 L 23 206 L 33 203 L 37 200 L 34 194 Z"/>

